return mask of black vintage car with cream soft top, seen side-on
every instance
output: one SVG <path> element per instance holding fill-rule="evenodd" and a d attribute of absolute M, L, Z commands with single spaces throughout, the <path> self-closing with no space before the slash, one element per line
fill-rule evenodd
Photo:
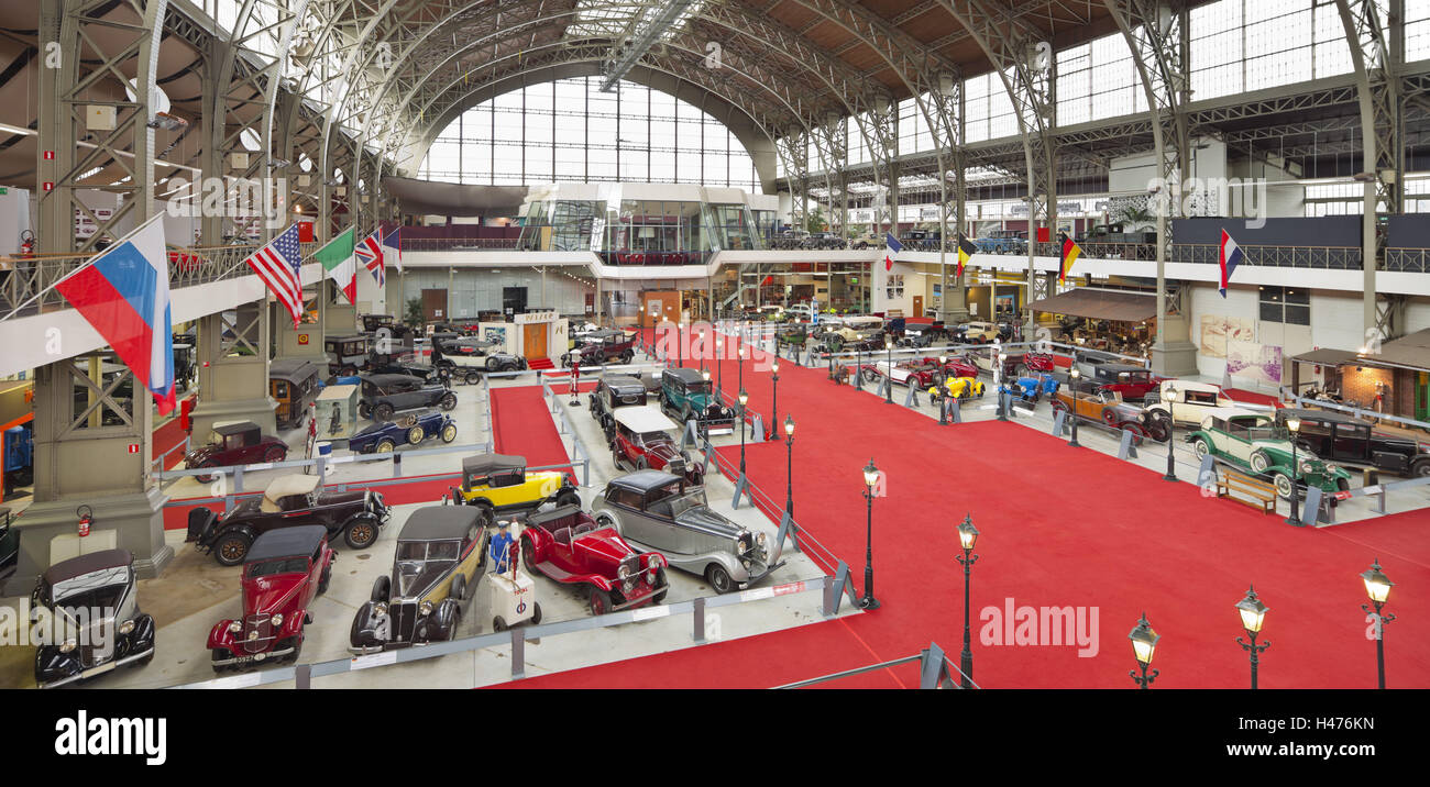
<path fill-rule="evenodd" d="M 200 554 L 212 551 L 220 566 L 237 566 L 259 536 L 303 524 L 322 524 L 329 538 L 342 534 L 349 547 L 365 550 L 389 516 L 382 493 L 326 491 L 317 476 L 293 474 L 272 481 L 262 497 L 239 500 L 222 518 L 209 508 L 189 511 L 184 540 Z"/>

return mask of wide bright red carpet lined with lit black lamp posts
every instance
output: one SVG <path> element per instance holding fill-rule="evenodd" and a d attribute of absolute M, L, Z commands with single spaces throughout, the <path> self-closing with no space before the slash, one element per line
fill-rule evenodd
<path fill-rule="evenodd" d="M 726 384 L 736 376 L 724 361 Z M 1244 687 L 1247 657 L 1234 638 L 1236 604 L 1254 583 L 1270 607 L 1261 686 L 1373 687 L 1374 643 L 1360 610 L 1360 571 L 1379 557 L 1396 581 L 1386 628 L 1387 683 L 1430 686 L 1430 513 L 1326 530 L 1293 528 L 1191 484 L 1064 440 L 997 421 L 937 427 L 930 418 L 821 370 L 782 367 L 782 418 L 792 411 L 795 510 L 801 524 L 851 563 L 862 588 L 859 468 L 872 454 L 888 496 L 874 503 L 875 590 L 881 610 L 847 621 L 671 651 L 522 681 L 529 687 L 774 686 L 911 656 L 937 641 L 957 661 L 962 576 L 954 527 L 980 528 L 972 570 L 974 678 L 985 687 L 1128 688 L 1127 633 L 1147 613 L 1163 636 L 1158 687 Z M 751 407 L 769 413 L 769 374 L 745 364 Z M 738 461 L 739 448 L 722 448 Z M 1075 460 L 1072 458 L 1075 457 Z M 749 474 L 775 493 L 785 481 L 779 443 L 746 447 Z M 1097 654 L 1075 647 L 980 641 L 980 614 L 1017 607 L 1088 607 Z M 894 686 L 895 671 L 832 686 Z M 904 683 L 911 678 L 905 677 Z"/>

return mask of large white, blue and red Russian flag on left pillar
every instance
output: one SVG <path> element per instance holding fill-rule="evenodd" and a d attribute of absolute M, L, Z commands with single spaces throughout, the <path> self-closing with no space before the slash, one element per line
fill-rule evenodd
<path fill-rule="evenodd" d="M 143 380 L 159 414 L 174 408 L 173 319 L 163 213 L 100 251 L 54 289 Z"/>

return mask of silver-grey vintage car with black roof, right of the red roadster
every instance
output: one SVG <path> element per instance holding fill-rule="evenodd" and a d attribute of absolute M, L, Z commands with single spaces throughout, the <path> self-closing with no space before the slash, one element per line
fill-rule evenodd
<path fill-rule="evenodd" d="M 784 566 L 769 563 L 764 533 L 716 514 L 704 488 L 659 470 L 612 480 L 592 514 L 598 527 L 615 527 L 635 548 L 659 551 L 671 566 L 705 577 L 715 593 L 749 587 Z"/>

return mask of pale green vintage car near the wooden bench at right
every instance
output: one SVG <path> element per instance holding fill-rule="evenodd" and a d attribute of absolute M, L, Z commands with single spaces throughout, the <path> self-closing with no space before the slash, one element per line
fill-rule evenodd
<path fill-rule="evenodd" d="M 1291 464 L 1291 440 L 1271 413 L 1240 407 L 1216 407 L 1201 418 L 1201 428 L 1185 437 L 1197 458 L 1211 456 L 1254 476 L 1270 478 L 1281 497 L 1291 497 L 1293 478 L 1321 491 L 1350 488 L 1350 473 L 1318 458 L 1311 451 L 1296 451 L 1300 467 Z"/>

